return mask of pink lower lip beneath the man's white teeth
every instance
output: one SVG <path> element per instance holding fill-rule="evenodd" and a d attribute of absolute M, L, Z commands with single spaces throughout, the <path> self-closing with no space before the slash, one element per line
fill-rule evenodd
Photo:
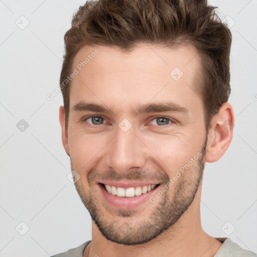
<path fill-rule="evenodd" d="M 109 194 L 101 184 L 98 184 L 98 186 L 100 187 L 100 190 L 102 192 L 103 197 L 105 198 L 105 200 L 113 207 L 115 208 L 119 208 L 119 209 L 131 209 L 131 208 L 136 208 L 140 205 L 142 205 L 143 203 L 149 201 L 150 202 L 150 197 L 155 194 L 156 190 L 159 188 L 155 187 L 154 189 L 152 189 L 151 191 L 145 193 L 145 194 L 141 194 L 141 195 L 137 195 L 134 197 L 120 197 L 120 196 L 116 196 L 116 195 L 112 195 Z"/>

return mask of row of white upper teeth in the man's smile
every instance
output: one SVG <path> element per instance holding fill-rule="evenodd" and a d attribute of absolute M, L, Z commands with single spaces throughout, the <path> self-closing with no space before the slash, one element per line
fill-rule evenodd
<path fill-rule="evenodd" d="M 115 186 L 109 186 L 109 185 L 104 185 L 107 192 L 112 195 L 117 195 L 120 197 L 134 197 L 142 194 L 146 194 L 147 192 L 150 192 L 153 190 L 156 185 L 148 185 L 148 186 L 143 186 L 143 187 L 129 187 L 129 188 L 122 188 L 122 187 L 115 187 Z"/>

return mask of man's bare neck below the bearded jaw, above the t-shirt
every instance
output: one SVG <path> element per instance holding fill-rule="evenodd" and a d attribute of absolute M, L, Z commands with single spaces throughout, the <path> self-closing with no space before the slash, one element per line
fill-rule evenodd
<path fill-rule="evenodd" d="M 102 256 L 201 256 L 213 257 L 222 243 L 209 236 L 201 226 L 200 194 L 201 188 L 187 211 L 169 229 L 151 241 L 138 245 L 117 244 L 107 240 L 92 222 L 92 240 L 89 257 Z M 84 252 L 85 253 L 85 252 Z M 84 254 L 84 257 L 87 255 Z"/>

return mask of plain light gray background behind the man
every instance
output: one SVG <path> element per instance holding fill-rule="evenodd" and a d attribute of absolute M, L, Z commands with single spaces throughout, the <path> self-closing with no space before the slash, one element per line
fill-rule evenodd
<path fill-rule="evenodd" d="M 0 1 L 0 256 L 49 256 L 91 239 L 91 219 L 67 179 L 58 87 L 63 36 L 84 1 Z M 231 96 L 234 136 L 224 156 L 207 163 L 202 226 L 257 252 L 257 1 L 210 1 L 233 34 Z M 29 25 L 24 29 L 17 26 Z M 223 19 L 222 18 L 222 19 Z M 22 20 L 23 19 L 23 20 Z M 16 124 L 25 119 L 24 132 Z M 230 223 L 225 224 L 227 221 Z M 29 231 L 25 235 L 26 225 Z M 225 224 L 225 226 L 223 226 Z M 17 227 L 17 230 L 16 230 Z M 19 232 L 20 233 L 19 233 Z"/>

